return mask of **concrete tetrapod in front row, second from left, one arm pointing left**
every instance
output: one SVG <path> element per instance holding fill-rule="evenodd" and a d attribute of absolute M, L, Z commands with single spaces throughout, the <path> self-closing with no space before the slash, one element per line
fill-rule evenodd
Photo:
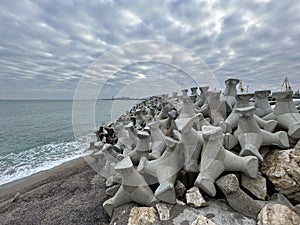
<path fill-rule="evenodd" d="M 157 178 L 159 186 L 155 191 L 157 199 L 176 204 L 176 193 L 174 189 L 178 171 L 184 163 L 182 144 L 172 138 L 165 139 L 167 148 L 159 159 L 148 161 L 141 158 L 137 171 L 142 174 L 150 174 Z"/>

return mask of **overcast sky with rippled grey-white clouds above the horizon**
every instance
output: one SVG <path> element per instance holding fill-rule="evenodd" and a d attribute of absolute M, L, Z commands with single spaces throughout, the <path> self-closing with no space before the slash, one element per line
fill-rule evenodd
<path fill-rule="evenodd" d="M 11 0 L 0 21 L 0 99 L 72 99 L 91 83 L 101 96 L 224 88 L 230 77 L 249 92 L 280 90 L 285 76 L 300 89 L 297 0 Z"/>

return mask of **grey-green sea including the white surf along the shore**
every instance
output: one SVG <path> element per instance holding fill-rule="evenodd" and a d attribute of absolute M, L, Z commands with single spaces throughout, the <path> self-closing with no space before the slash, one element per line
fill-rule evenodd
<path fill-rule="evenodd" d="M 75 138 L 72 100 L 0 100 L 0 185 L 89 154 L 99 125 L 113 122 L 135 103 L 97 100 L 95 126 L 85 124 L 83 107 L 82 132 Z"/>

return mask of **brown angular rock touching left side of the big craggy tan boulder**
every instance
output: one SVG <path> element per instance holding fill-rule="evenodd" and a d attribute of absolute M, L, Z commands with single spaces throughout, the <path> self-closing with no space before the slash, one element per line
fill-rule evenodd
<path fill-rule="evenodd" d="M 242 174 L 241 185 L 258 199 L 265 200 L 267 196 L 267 182 L 263 176 L 258 175 L 257 178 L 249 178 Z"/>

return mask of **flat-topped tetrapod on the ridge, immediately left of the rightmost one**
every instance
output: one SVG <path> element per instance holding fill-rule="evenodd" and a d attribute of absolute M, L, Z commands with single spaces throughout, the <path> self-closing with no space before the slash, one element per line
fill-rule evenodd
<path fill-rule="evenodd" d="M 255 91 L 255 114 L 263 117 L 273 112 L 273 109 L 268 101 L 268 96 L 271 94 L 270 90 Z"/>

